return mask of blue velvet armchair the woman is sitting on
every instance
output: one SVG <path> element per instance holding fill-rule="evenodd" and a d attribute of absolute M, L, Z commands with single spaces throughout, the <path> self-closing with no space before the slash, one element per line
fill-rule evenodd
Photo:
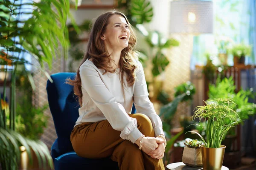
<path fill-rule="evenodd" d="M 79 102 L 73 93 L 73 86 L 65 84 L 65 80 L 75 76 L 75 73 L 57 73 L 51 75 L 53 83 L 47 81 L 49 108 L 58 136 L 51 150 L 55 170 L 119 170 L 117 162 L 110 158 L 82 158 L 73 150 L 70 133 L 79 117 Z M 135 113 L 134 106 L 132 112 Z"/>

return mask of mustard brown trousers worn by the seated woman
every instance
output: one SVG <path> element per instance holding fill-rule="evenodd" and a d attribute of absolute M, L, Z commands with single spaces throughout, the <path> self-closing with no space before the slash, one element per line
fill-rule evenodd
<path fill-rule="evenodd" d="M 148 116 L 129 114 L 137 119 L 138 129 L 145 136 L 155 137 Z M 164 170 L 163 159 L 154 159 L 139 149 L 137 144 L 120 137 L 107 120 L 77 125 L 71 132 L 70 141 L 78 156 L 99 159 L 110 157 L 118 162 L 120 170 Z"/>

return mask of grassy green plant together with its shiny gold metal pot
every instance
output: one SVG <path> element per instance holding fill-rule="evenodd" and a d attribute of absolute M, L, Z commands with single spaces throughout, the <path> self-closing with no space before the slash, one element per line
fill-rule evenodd
<path fill-rule="evenodd" d="M 199 133 L 195 132 L 204 142 L 201 145 L 203 169 L 221 170 L 226 147 L 221 145 L 221 142 L 230 127 L 238 124 L 239 116 L 230 107 L 230 104 L 236 105 L 236 103 L 229 98 L 215 98 L 205 104 L 196 107 L 192 116 L 193 120 L 199 119 L 199 122 L 204 120 L 205 123 L 206 141 Z M 230 119 L 230 122 L 225 121 L 226 119 Z"/>

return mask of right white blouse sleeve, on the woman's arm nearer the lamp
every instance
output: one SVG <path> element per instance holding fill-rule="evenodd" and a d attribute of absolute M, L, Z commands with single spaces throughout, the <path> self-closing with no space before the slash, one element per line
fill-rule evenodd
<path fill-rule="evenodd" d="M 155 136 L 163 134 L 163 124 L 160 117 L 154 110 L 152 102 L 148 98 L 148 89 L 145 80 L 143 66 L 138 62 L 137 81 L 134 86 L 134 105 L 138 113 L 143 113 L 149 117 L 152 122 Z"/>

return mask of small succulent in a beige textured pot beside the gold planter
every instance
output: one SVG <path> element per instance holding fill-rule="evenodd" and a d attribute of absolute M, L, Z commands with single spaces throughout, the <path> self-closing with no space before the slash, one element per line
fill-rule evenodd
<path fill-rule="evenodd" d="M 202 166 L 201 144 L 202 141 L 185 139 L 182 162 L 191 167 Z"/>

